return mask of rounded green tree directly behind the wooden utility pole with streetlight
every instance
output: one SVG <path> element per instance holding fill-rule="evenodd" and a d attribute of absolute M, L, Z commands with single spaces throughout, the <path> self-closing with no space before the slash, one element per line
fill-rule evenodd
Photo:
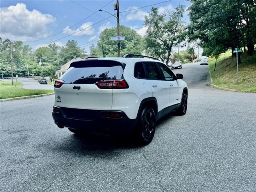
<path fill-rule="evenodd" d="M 91 56 L 102 57 L 102 46 L 104 53 L 108 57 L 117 56 L 117 42 L 110 40 L 111 37 L 116 36 L 116 28 L 107 28 L 100 33 L 100 40 L 97 46 L 90 47 Z M 135 30 L 129 27 L 120 26 L 120 34 L 125 37 L 124 41 L 120 42 L 120 54 L 125 55 L 128 53 L 141 54 L 144 50 L 142 37 L 137 34 Z"/>

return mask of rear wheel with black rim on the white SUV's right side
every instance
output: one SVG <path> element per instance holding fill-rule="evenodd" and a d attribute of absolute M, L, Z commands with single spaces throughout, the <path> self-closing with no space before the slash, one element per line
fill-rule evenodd
<path fill-rule="evenodd" d="M 148 145 L 154 138 L 156 131 L 156 115 L 154 110 L 146 106 L 140 113 L 136 126 L 136 138 L 140 145 Z"/>

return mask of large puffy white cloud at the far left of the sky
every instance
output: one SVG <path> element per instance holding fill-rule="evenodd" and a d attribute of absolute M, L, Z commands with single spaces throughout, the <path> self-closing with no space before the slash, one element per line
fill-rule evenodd
<path fill-rule="evenodd" d="M 11 40 L 34 40 L 49 35 L 48 24 L 55 22 L 50 14 L 28 10 L 26 4 L 0 8 L 0 36 Z"/>

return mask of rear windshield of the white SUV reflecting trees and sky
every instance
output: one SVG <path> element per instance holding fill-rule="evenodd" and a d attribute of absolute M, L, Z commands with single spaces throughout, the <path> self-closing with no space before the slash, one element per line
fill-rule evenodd
<path fill-rule="evenodd" d="M 98 81 L 122 79 L 123 72 L 123 66 L 119 62 L 81 61 L 71 64 L 60 79 L 66 84 L 94 84 Z"/>

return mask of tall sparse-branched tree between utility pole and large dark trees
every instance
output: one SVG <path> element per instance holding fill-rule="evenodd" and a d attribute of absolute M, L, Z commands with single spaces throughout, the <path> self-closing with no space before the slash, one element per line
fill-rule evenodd
<path fill-rule="evenodd" d="M 184 6 L 178 6 L 172 14 L 158 14 L 157 8 L 152 7 L 149 16 L 145 17 L 146 51 L 158 57 L 162 62 L 169 62 L 172 47 L 177 46 L 186 38 L 186 28 L 182 17 Z"/>

